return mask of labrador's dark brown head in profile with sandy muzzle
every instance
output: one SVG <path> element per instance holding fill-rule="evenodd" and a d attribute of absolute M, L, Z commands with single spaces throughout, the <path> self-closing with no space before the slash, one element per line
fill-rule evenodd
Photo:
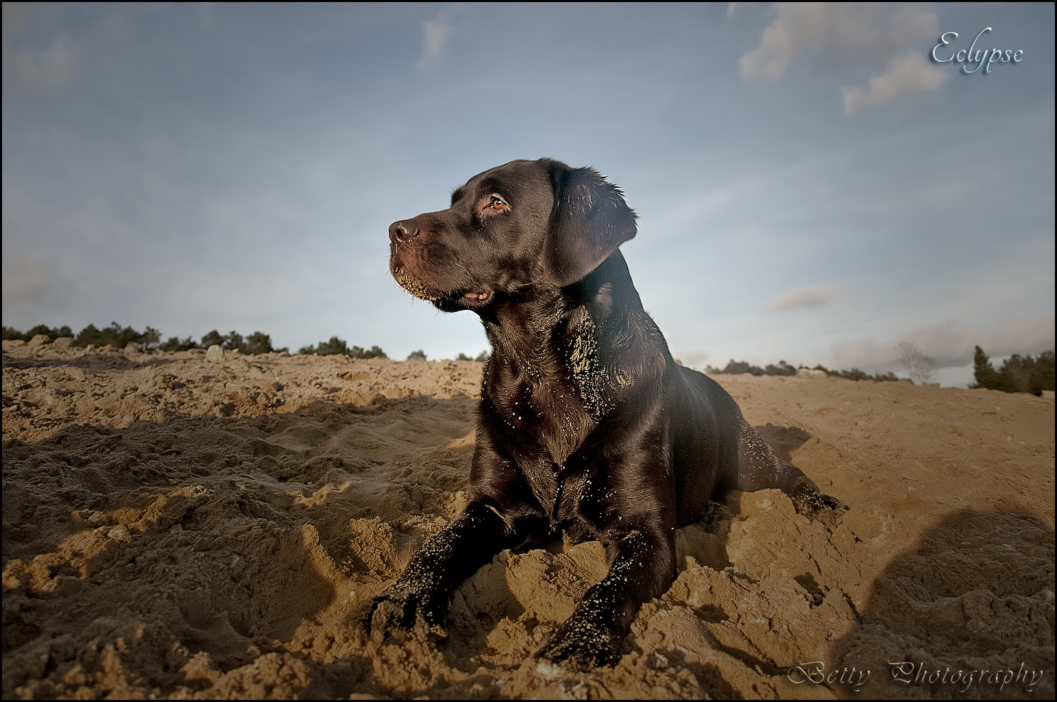
<path fill-rule="evenodd" d="M 634 236 L 635 214 L 594 169 L 512 161 L 457 188 L 448 209 L 393 222 L 389 270 L 441 310 L 482 310 L 570 285 Z"/>

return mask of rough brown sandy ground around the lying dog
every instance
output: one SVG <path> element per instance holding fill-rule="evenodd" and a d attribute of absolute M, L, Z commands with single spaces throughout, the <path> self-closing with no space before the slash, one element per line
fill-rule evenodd
<path fill-rule="evenodd" d="M 4 698 L 1053 697 L 1053 393 L 719 375 L 832 532 L 730 496 L 614 668 L 532 658 L 597 542 L 503 552 L 438 644 L 357 644 L 463 502 L 480 372 L 5 341 Z"/>

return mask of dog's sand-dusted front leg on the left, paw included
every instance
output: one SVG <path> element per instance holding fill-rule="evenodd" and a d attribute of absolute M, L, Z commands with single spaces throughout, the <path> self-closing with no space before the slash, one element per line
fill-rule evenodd
<path fill-rule="evenodd" d="M 356 608 L 354 624 L 379 644 L 387 634 L 398 639 L 410 632 L 421 640 L 443 635 L 441 624 L 452 591 L 514 538 L 498 511 L 470 501 L 426 541 L 391 588 Z"/>

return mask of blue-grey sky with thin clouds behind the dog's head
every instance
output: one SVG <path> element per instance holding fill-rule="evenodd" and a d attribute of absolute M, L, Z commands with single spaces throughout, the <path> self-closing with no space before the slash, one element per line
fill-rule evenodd
<path fill-rule="evenodd" d="M 551 156 L 625 190 L 688 365 L 901 371 L 910 340 L 964 384 L 976 344 L 1054 347 L 1053 4 L 3 13 L 7 326 L 476 354 L 476 316 L 392 281 L 387 227 Z M 930 57 L 985 27 L 1020 60 Z"/>

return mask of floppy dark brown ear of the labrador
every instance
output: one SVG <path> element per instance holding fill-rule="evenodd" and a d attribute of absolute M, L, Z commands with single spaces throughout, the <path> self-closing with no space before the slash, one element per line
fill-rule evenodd
<path fill-rule="evenodd" d="M 543 273 L 559 288 L 594 271 L 635 236 L 635 213 L 620 188 L 593 168 L 550 168 L 554 208 L 543 244 Z"/>

